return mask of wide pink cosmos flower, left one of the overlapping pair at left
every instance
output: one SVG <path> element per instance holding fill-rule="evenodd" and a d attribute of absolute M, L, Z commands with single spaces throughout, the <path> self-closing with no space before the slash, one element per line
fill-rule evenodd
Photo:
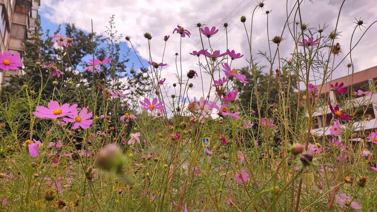
<path fill-rule="evenodd" d="M 49 102 L 47 107 L 48 108 L 38 106 L 37 111 L 34 111 L 33 114 L 38 118 L 57 119 L 77 111 L 77 104 L 69 106 L 69 104 L 66 103 L 60 106 L 57 101 Z"/>

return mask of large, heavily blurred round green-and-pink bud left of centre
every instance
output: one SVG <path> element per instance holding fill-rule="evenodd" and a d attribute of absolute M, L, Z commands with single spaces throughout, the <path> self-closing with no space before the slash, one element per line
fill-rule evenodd
<path fill-rule="evenodd" d="M 116 144 L 106 145 L 97 156 L 97 165 L 106 171 L 121 172 L 124 166 L 124 157 Z"/>

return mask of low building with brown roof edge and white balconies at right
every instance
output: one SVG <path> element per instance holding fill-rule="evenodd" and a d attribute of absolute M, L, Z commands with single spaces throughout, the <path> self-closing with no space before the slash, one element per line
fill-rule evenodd
<path fill-rule="evenodd" d="M 348 87 L 348 90 L 351 91 L 351 85 L 352 85 L 352 91 L 356 92 L 357 90 L 363 90 L 363 85 L 370 83 L 371 80 L 377 79 L 377 66 L 354 73 L 353 77 L 352 75 L 344 76 L 342 78 L 333 79 L 331 81 L 331 84 L 335 83 L 344 83 L 343 87 Z M 335 93 L 334 91 L 330 91 L 329 87 L 330 82 L 326 82 L 323 85 L 317 85 L 318 89 L 318 95 L 320 95 L 320 99 L 328 98 L 331 102 L 335 102 Z M 356 128 L 356 131 L 359 130 L 365 130 L 365 131 L 372 131 L 374 128 L 377 128 L 377 93 L 372 93 L 371 96 L 357 96 L 354 99 L 354 102 L 362 103 L 367 105 L 366 113 L 365 115 L 370 115 L 371 120 L 369 121 L 358 121 L 354 122 L 354 127 Z M 323 116 L 323 114 L 326 114 Z M 363 115 L 363 111 L 359 111 L 357 115 Z M 313 133 L 317 133 L 319 135 L 325 134 L 325 136 L 329 136 L 329 124 L 331 123 L 331 119 L 333 118 L 333 114 L 330 111 L 330 108 L 328 105 L 323 105 L 323 107 L 316 111 L 316 113 L 313 114 L 314 118 L 317 120 L 317 125 L 313 127 Z"/>

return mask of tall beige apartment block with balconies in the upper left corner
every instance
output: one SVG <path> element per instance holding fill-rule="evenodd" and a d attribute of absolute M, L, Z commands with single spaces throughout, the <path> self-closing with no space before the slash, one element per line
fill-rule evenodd
<path fill-rule="evenodd" d="M 0 0 L 0 51 L 24 55 L 23 40 L 27 39 L 28 30 L 38 27 L 40 0 Z M 0 70 L 0 82 L 10 76 L 23 75 L 22 70 Z"/>

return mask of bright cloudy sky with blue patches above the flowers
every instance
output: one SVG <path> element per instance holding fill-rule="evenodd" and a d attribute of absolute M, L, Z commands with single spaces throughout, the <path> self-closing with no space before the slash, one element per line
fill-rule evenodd
<path fill-rule="evenodd" d="M 122 2 L 122 3 L 120 3 Z M 296 1 L 288 0 L 288 8 L 292 8 Z M 339 12 L 341 0 L 315 0 L 314 3 L 306 0 L 301 7 L 301 14 L 303 23 L 307 23 L 310 27 L 319 27 L 328 25 L 325 34 L 329 34 L 334 30 L 336 18 Z M 283 0 L 265 0 L 263 9 L 257 9 L 254 14 L 253 34 L 251 35 L 251 43 L 253 54 L 258 50 L 262 52 L 268 49 L 267 40 L 267 15 L 265 12 L 271 11 L 269 14 L 269 36 L 270 39 L 275 35 L 280 35 L 285 20 L 286 1 Z M 95 32 L 104 34 L 108 21 L 111 15 L 115 15 L 116 29 L 124 36 L 131 36 L 132 43 L 143 58 L 144 66 L 147 66 L 146 60 L 149 58 L 149 50 L 147 40 L 143 38 L 144 32 L 150 32 L 153 35 L 151 42 L 152 58 L 155 61 L 161 61 L 164 50 L 165 35 L 170 35 L 167 43 L 164 63 L 168 66 L 162 69 L 162 78 L 167 78 L 167 82 L 177 82 L 172 76 L 176 73 L 175 56 L 179 52 L 180 37 L 177 34 L 172 34 L 173 29 L 177 24 L 180 24 L 185 29 L 189 30 L 192 35 L 190 38 L 182 38 L 182 70 L 199 70 L 198 58 L 189 54 L 193 50 L 200 50 L 200 36 L 198 28 L 195 24 L 200 22 L 209 27 L 216 26 L 220 30 L 211 39 L 211 46 L 220 52 L 226 51 L 225 31 L 222 23 L 230 24 L 228 28 L 228 48 L 234 49 L 236 52 L 241 52 L 245 56 L 241 59 L 233 61 L 232 67 L 241 68 L 247 64 L 246 59 L 250 58 L 248 53 L 248 43 L 243 24 L 240 22 L 241 15 L 247 18 L 246 24 L 250 31 L 251 14 L 257 5 L 255 1 L 249 0 L 218 0 L 216 3 L 212 1 L 189 0 L 189 1 L 119 1 L 119 0 L 42 0 L 40 15 L 41 25 L 44 29 L 55 29 L 58 24 L 67 22 L 75 23 L 76 26 L 84 31 L 91 31 L 91 20 L 93 20 L 93 28 Z M 364 19 L 364 26 L 368 27 L 373 21 L 376 21 L 377 4 L 370 0 L 346 0 L 339 19 L 338 30 L 341 32 L 340 39 L 337 42 L 342 46 L 343 52 L 339 54 L 343 58 L 349 51 L 349 44 L 351 34 L 356 25 L 355 18 Z M 296 18 L 298 20 L 298 18 Z M 294 21 L 293 17 L 290 22 Z M 366 28 L 362 27 L 362 31 L 356 30 L 354 41 L 356 43 L 360 35 Z M 355 71 L 367 69 L 369 67 L 377 66 L 377 42 L 375 41 L 376 26 L 372 26 L 366 32 L 362 41 L 352 52 L 352 60 L 355 66 Z M 289 54 L 294 50 L 293 40 L 286 30 L 284 38 L 287 38 L 280 45 L 280 56 L 282 58 L 289 58 Z M 271 43 L 271 42 L 270 42 Z M 123 44 L 124 50 L 127 49 L 127 44 Z M 129 46 L 130 47 L 130 46 Z M 276 46 L 273 46 L 274 51 Z M 208 48 L 205 47 L 205 48 Z M 131 52 L 131 54 L 133 54 Z M 136 67 L 140 67 L 139 62 L 132 55 L 131 61 L 135 63 Z M 261 64 L 268 64 L 267 61 L 260 58 Z M 336 62 L 337 63 L 339 63 Z M 347 75 L 345 65 L 349 63 L 349 58 L 346 58 L 339 68 L 334 72 L 333 78 L 339 78 Z M 276 66 L 276 65 L 275 65 Z M 276 67 L 274 67 L 276 69 Z M 266 70 L 267 71 L 267 70 Z M 203 75 L 205 90 L 207 90 L 210 81 L 209 77 Z M 201 80 L 200 77 L 192 81 L 196 87 L 195 96 L 201 96 Z M 193 98 L 193 96 L 191 97 Z"/>

